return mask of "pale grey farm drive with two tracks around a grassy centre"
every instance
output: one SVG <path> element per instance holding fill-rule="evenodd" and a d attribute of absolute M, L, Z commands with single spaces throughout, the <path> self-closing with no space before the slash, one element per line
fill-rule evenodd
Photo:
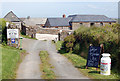
<path fill-rule="evenodd" d="M 20 64 L 16 79 L 41 79 L 40 56 L 41 50 L 49 53 L 50 64 L 54 66 L 53 71 L 56 79 L 89 79 L 83 76 L 67 58 L 57 53 L 56 47 L 51 41 L 23 39 L 23 49 L 29 54 Z"/>

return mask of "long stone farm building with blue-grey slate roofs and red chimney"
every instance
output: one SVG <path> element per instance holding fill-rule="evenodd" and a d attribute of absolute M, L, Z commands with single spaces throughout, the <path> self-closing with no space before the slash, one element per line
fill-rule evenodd
<path fill-rule="evenodd" d="M 105 26 L 115 24 L 116 20 L 108 18 L 104 15 L 69 15 L 67 18 L 48 18 L 45 27 L 76 30 L 81 26 Z"/>

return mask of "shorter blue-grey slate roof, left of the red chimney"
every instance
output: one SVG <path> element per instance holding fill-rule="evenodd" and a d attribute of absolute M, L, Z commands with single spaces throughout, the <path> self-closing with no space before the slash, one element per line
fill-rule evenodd
<path fill-rule="evenodd" d="M 48 18 L 50 26 L 70 26 L 69 22 L 72 18 Z"/>

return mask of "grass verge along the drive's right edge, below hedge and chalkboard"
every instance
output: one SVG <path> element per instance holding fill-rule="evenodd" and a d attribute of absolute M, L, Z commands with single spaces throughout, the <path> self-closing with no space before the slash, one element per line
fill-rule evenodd
<path fill-rule="evenodd" d="M 60 41 L 56 43 L 57 50 L 61 48 L 61 45 L 62 42 Z M 115 74 L 114 72 L 111 72 L 111 75 L 109 76 L 105 76 L 100 74 L 99 68 L 97 71 L 96 68 L 93 67 L 89 67 L 88 69 L 85 69 L 87 60 L 81 57 L 80 55 L 70 54 L 70 53 L 64 53 L 63 55 L 67 57 L 83 75 L 91 79 L 120 79 L 120 76 L 118 74 Z"/>

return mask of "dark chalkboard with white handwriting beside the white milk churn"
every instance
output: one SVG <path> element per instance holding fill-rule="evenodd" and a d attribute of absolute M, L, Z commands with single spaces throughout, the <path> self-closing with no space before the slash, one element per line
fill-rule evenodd
<path fill-rule="evenodd" d="M 96 46 L 90 46 L 87 59 L 87 67 L 96 67 L 98 68 L 99 58 L 100 58 L 100 48 Z"/>

